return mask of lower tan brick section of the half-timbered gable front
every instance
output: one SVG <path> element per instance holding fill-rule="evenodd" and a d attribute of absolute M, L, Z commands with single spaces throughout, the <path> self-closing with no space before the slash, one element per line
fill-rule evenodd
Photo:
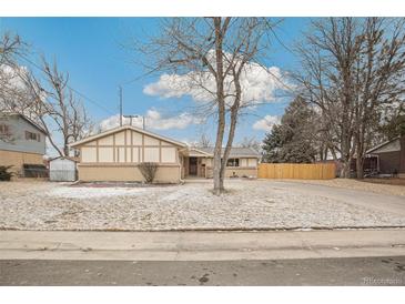
<path fill-rule="evenodd" d="M 79 180 L 83 182 L 143 182 L 138 165 L 79 164 Z M 156 183 L 179 183 L 180 165 L 160 165 L 154 179 Z"/>

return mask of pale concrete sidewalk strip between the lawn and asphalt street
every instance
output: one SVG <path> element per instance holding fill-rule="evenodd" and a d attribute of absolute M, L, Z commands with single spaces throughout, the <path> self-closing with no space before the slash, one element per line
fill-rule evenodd
<path fill-rule="evenodd" d="M 405 255 L 405 230 L 0 231 L 0 260 L 234 261 Z"/>

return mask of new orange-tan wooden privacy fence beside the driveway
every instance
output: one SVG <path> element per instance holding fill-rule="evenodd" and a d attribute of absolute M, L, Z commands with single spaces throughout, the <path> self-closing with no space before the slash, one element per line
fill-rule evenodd
<path fill-rule="evenodd" d="M 335 178 L 334 163 L 261 163 L 259 179 L 331 180 Z"/>

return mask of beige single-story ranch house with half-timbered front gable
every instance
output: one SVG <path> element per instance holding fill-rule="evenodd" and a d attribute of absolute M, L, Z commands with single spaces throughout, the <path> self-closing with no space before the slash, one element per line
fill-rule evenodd
<path fill-rule="evenodd" d="M 178 183 L 188 176 L 212 176 L 212 151 L 138 129 L 119 126 L 70 145 L 80 150 L 80 181 L 143 181 L 142 162 L 159 164 L 155 181 Z M 233 149 L 226 176 L 256 176 L 259 153 Z"/>

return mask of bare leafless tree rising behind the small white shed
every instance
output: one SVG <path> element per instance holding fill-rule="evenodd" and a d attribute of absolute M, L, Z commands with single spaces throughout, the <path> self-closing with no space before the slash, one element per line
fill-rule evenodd
<path fill-rule="evenodd" d="M 69 144 L 91 133 L 93 123 L 82 102 L 69 88 L 69 74 L 42 60 L 43 80 L 28 70 L 18 71 L 23 93 L 8 103 L 13 112 L 21 113 L 40 125 L 53 149 L 61 156 L 69 156 Z M 44 87 L 47 89 L 44 89 Z M 55 136 L 61 134 L 62 146 Z"/>

